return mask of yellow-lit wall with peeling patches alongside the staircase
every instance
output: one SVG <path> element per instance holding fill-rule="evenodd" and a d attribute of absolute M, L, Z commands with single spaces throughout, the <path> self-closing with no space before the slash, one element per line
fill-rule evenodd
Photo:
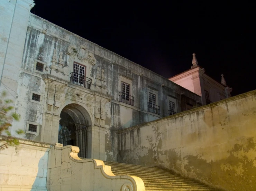
<path fill-rule="evenodd" d="M 256 90 L 118 133 L 118 162 L 256 190 Z"/>

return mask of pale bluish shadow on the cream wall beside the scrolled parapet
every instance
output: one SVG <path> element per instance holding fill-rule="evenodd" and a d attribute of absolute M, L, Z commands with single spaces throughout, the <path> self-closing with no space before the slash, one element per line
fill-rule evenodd
<path fill-rule="evenodd" d="M 37 175 L 32 185 L 31 191 L 47 191 L 46 189 L 47 163 L 48 163 L 48 152 L 45 152 L 38 162 Z"/>

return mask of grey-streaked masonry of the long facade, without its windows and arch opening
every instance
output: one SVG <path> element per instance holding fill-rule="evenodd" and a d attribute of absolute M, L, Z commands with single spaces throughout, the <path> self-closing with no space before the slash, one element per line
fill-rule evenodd
<path fill-rule="evenodd" d="M 86 77 L 92 79 L 90 90 L 70 83 L 74 61 L 86 66 Z M 43 71 L 36 70 L 37 62 L 43 64 Z M 134 106 L 119 102 L 123 80 L 130 84 Z M 17 82 L 16 112 L 21 117 L 12 126 L 26 134 L 15 135 L 13 128 L 13 135 L 56 143 L 61 109 L 67 103 L 76 104 L 88 112 L 91 121 L 89 157 L 101 160 L 116 159 L 112 130 L 167 116 L 168 99 L 175 100 L 176 112 L 187 109 L 185 102 L 199 106 L 201 99 L 170 80 L 31 13 Z M 149 90 L 157 94 L 159 115 L 148 112 Z M 40 102 L 31 100 L 33 93 L 40 95 Z M 38 132 L 28 131 L 31 123 L 37 125 Z"/>

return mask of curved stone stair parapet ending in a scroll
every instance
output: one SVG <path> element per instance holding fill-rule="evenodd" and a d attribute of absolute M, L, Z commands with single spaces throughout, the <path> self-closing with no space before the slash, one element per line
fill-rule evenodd
<path fill-rule="evenodd" d="M 63 185 L 73 190 L 145 191 L 144 182 L 139 177 L 116 176 L 112 173 L 111 166 L 105 165 L 103 161 L 80 159 L 78 153 L 79 147 L 71 145 L 62 147 L 56 144 L 51 148 L 46 186 L 48 190 L 61 188 Z M 72 174 L 75 174 L 75 179 Z M 61 185 L 57 183 L 59 179 Z"/>

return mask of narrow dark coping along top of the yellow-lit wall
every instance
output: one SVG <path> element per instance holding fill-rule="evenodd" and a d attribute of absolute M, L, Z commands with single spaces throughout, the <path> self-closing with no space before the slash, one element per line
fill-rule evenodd
<path fill-rule="evenodd" d="M 181 112 L 181 113 L 177 113 L 175 115 L 163 117 L 161 119 L 157 119 L 157 120 L 154 120 L 154 121 L 142 123 L 142 124 L 139 124 L 139 125 L 135 125 L 135 126 L 132 126 L 132 127 L 125 128 L 125 129 L 116 130 L 115 132 L 117 134 L 120 134 L 120 133 L 124 133 L 124 132 L 128 132 L 128 131 L 132 131 L 132 130 L 138 129 L 140 127 L 143 127 L 143 126 L 152 125 L 152 124 L 162 122 L 164 120 L 169 120 L 169 119 L 171 120 L 171 119 L 181 117 L 181 116 L 184 116 L 184 115 L 187 115 L 187 114 L 202 111 L 203 109 L 213 108 L 213 107 L 216 107 L 216 106 L 219 106 L 219 105 L 227 104 L 228 102 L 232 102 L 232 101 L 235 101 L 235 100 L 238 100 L 238 99 L 241 99 L 241 98 L 245 98 L 245 97 L 248 97 L 248 96 L 251 96 L 251 95 L 256 95 L 256 90 L 252 90 L 250 92 L 239 94 L 239 95 L 234 96 L 234 97 L 229 97 L 227 99 L 223 99 L 221 101 L 214 102 L 214 103 L 211 103 L 209 105 L 203 105 L 203 106 L 200 106 L 200 107 L 196 107 L 194 109 L 190 109 L 189 111 L 184 111 L 184 112 Z"/>

